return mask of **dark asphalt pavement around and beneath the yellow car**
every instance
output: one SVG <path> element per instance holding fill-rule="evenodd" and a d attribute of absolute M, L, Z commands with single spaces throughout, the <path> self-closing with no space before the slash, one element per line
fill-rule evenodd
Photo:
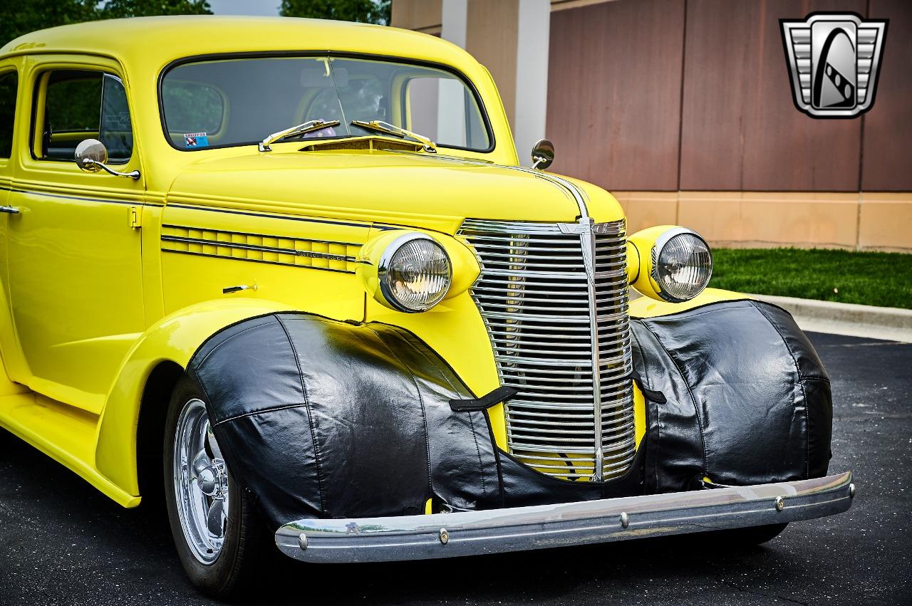
<path fill-rule="evenodd" d="M 912 344 L 811 335 L 833 379 L 831 473 L 853 507 L 762 547 L 700 535 L 454 560 L 277 560 L 256 604 L 912 603 Z M 0 439 L 0 604 L 210 604 L 163 512 L 128 510 L 19 440 Z"/>

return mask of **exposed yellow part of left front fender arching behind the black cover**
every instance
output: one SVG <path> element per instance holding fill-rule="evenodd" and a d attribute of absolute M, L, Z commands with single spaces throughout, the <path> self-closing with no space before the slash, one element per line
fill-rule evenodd
<path fill-rule="evenodd" d="M 196 303 L 152 324 L 124 358 L 102 409 L 95 449 L 98 471 L 119 488 L 139 495 L 137 425 L 152 370 L 162 362 L 186 368 L 200 345 L 225 326 L 288 309 L 283 303 L 239 297 Z"/>

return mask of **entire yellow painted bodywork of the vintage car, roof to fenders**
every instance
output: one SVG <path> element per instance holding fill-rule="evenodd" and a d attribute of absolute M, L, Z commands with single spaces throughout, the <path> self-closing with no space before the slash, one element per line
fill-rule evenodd
<path fill-rule="evenodd" d="M 460 72 L 482 100 L 492 149 L 302 151 L 296 142 L 276 143 L 268 154 L 249 145 L 190 153 L 162 132 L 158 82 L 172 62 L 326 49 Z M 49 70 L 74 68 L 122 80 L 134 147 L 116 168 L 140 170 L 139 180 L 36 159 L 42 129 L 32 121 L 42 123 Z M 499 380 L 467 290 L 479 266 L 454 234 L 466 218 L 573 222 L 579 214 L 566 190 L 512 168 L 516 150 L 491 75 L 434 36 L 287 18 L 153 17 L 22 36 L 0 49 L 0 73 L 8 69 L 18 72 L 19 98 L 12 158 L 0 159 L 0 203 L 21 211 L 0 215 L 0 426 L 127 507 L 139 503 L 137 423 L 158 365 L 185 367 L 226 325 L 298 310 L 408 329 L 486 394 Z M 624 217 L 611 194 L 571 181 L 596 221 Z M 393 311 L 372 296 L 378 242 L 402 230 L 430 234 L 453 260 L 451 293 L 427 313 Z M 725 295 L 707 291 L 694 304 L 714 296 Z M 649 301 L 631 309 L 645 317 L 688 306 Z M 639 442 L 638 391 L 636 402 Z M 503 406 L 490 417 L 506 448 Z"/>

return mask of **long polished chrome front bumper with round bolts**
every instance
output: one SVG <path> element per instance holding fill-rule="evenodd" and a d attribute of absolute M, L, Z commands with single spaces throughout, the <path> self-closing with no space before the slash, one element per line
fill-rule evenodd
<path fill-rule="evenodd" d="M 486 511 L 359 519 L 299 519 L 275 532 L 295 560 L 361 562 L 451 558 L 762 526 L 841 513 L 852 472 L 664 495 Z"/>

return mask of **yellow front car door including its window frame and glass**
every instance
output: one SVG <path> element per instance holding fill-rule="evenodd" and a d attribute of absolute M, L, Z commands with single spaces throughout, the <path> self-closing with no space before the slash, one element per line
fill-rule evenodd
<path fill-rule="evenodd" d="M 8 203 L 9 299 L 39 393 L 98 413 L 144 329 L 140 275 L 143 180 L 80 170 L 74 150 L 100 139 L 109 166 L 139 169 L 127 91 L 103 58 L 44 56 L 26 75 L 29 149 L 17 154 Z"/>

